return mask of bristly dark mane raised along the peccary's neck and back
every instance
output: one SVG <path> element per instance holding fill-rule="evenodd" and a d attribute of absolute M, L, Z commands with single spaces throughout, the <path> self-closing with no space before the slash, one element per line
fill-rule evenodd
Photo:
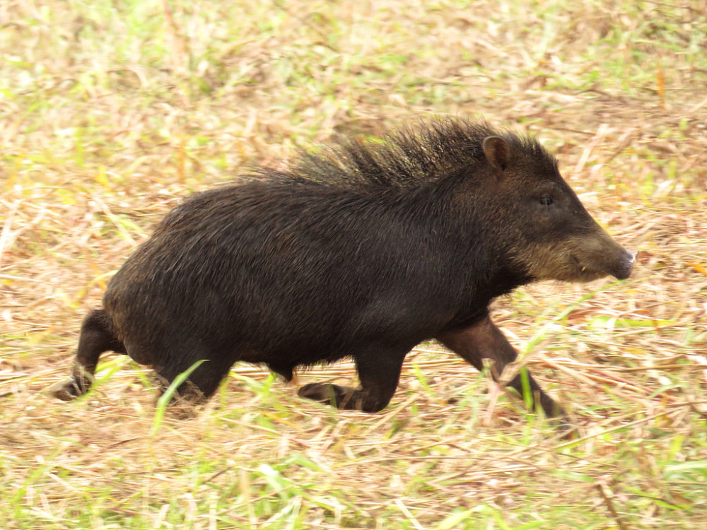
<path fill-rule="evenodd" d="M 481 163 L 487 136 L 501 136 L 524 157 L 555 163 L 531 136 L 493 129 L 484 121 L 444 118 L 393 130 L 380 139 L 335 140 L 319 151 L 305 151 L 287 170 L 261 169 L 256 175 L 358 191 L 418 188 Z"/>

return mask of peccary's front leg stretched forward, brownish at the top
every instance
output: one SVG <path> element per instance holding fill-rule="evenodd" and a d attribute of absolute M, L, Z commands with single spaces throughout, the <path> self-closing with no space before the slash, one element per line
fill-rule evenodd
<path fill-rule="evenodd" d="M 459 355 L 462 359 L 469 361 L 477 370 L 484 367 L 484 359 L 493 360 L 496 369 L 496 375 L 501 375 L 503 368 L 508 363 L 513 363 L 518 358 L 518 352 L 510 345 L 508 339 L 503 336 L 501 330 L 496 327 L 489 315 L 477 322 L 473 326 L 455 331 L 446 331 L 438 335 L 437 340 L 443 343 L 444 346 Z M 539 401 L 542 410 L 548 418 L 556 416 L 566 416 L 561 406 L 554 401 L 550 396 L 540 388 L 539 384 L 533 379 L 528 372 L 528 385 L 530 394 L 533 399 L 532 407 L 534 408 Z M 508 383 L 508 386 L 523 394 L 523 384 L 521 375 L 518 374 Z"/>

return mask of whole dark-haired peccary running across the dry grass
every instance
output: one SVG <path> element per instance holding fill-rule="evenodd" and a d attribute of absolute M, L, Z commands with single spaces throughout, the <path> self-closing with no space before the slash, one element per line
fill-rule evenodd
<path fill-rule="evenodd" d="M 379 411 L 405 355 L 436 338 L 496 373 L 516 353 L 489 319 L 493 298 L 542 279 L 625 278 L 633 256 L 589 216 L 556 161 L 528 137 L 443 119 L 380 141 L 303 153 L 168 213 L 84 319 L 76 367 L 54 394 L 88 387 L 103 351 L 151 364 L 204 399 L 236 361 L 285 379 L 353 358 L 361 387 L 300 395 Z M 520 377 L 510 382 L 520 391 Z M 549 416 L 561 409 L 530 377 Z"/>

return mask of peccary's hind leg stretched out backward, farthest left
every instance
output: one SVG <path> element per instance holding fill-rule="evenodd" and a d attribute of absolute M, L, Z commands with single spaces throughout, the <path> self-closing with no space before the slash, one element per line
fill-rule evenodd
<path fill-rule="evenodd" d="M 125 346 L 109 329 L 108 317 L 104 310 L 93 310 L 81 323 L 78 337 L 74 370 L 69 380 L 52 389 L 52 395 L 63 401 L 71 401 L 86 394 L 93 383 L 93 374 L 98 358 L 104 351 L 126 353 Z"/>

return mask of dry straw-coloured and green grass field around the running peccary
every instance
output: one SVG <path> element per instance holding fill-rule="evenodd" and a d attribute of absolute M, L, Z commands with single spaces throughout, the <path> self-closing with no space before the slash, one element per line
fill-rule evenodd
<path fill-rule="evenodd" d="M 704 1 L 9 0 L 0 66 L 0 529 L 707 526 Z M 119 355 L 47 394 L 183 197 L 437 114 L 537 134 L 641 252 L 628 281 L 493 306 L 579 437 L 436 343 L 373 415 L 235 365 L 163 418 Z"/>

